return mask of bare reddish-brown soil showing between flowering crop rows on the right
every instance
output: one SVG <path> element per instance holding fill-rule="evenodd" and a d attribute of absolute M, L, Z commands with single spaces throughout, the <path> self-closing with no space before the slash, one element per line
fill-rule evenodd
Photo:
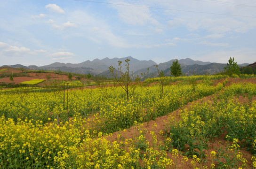
<path fill-rule="evenodd" d="M 226 85 L 230 85 L 232 83 L 245 83 L 245 82 L 256 84 L 256 78 L 248 78 L 248 79 L 228 78 L 228 83 Z M 175 119 L 175 121 L 180 120 L 180 110 L 183 110 L 184 108 L 190 108 L 192 105 L 194 105 L 196 103 L 201 103 L 201 102 L 206 102 L 208 100 L 212 100 L 215 96 L 216 96 L 216 94 L 213 94 L 213 95 L 204 97 L 203 99 L 192 101 L 192 102 L 188 103 L 187 105 L 183 106 L 182 108 L 179 108 L 176 111 L 169 113 L 168 115 L 165 115 L 162 117 L 157 117 L 156 120 L 145 122 L 144 126 L 141 127 L 141 130 L 145 129 L 145 131 L 146 131 L 146 133 L 144 135 L 145 138 L 147 139 L 147 141 L 149 143 L 152 143 L 152 136 L 150 134 L 150 131 L 154 131 L 154 133 L 157 135 L 158 140 L 163 141 L 164 137 L 160 134 L 160 131 L 168 129 L 170 119 L 173 118 L 173 119 Z M 256 100 L 256 97 L 254 97 L 253 100 Z M 247 102 L 248 100 L 245 99 L 244 97 L 239 97 L 239 101 Z M 153 125 L 156 127 L 153 127 L 153 129 L 152 129 Z M 112 133 L 112 137 L 108 137 L 108 139 L 110 141 L 118 140 L 117 136 L 119 134 L 124 139 L 130 139 L 130 138 L 134 139 L 134 138 L 136 138 L 136 136 L 139 135 L 138 126 L 130 127 L 129 129 L 126 129 L 125 131 L 114 132 L 114 133 Z M 209 168 L 209 166 L 211 164 L 210 152 L 216 151 L 215 147 L 224 148 L 226 146 L 226 141 L 224 140 L 224 137 L 225 137 L 225 133 L 222 134 L 219 138 L 214 139 L 214 142 L 209 141 L 209 145 L 208 145 L 209 149 L 205 150 L 206 154 L 208 155 L 208 157 L 207 157 L 208 161 L 206 163 L 203 163 L 203 165 L 208 166 L 208 168 Z M 248 166 L 251 166 L 252 162 L 250 159 L 252 157 L 252 154 L 250 154 L 248 151 L 246 151 L 245 148 L 240 149 L 240 152 L 247 159 Z M 173 161 L 176 160 L 177 169 L 193 169 L 193 166 L 191 164 L 192 159 L 189 159 L 188 161 L 183 162 L 182 155 L 179 154 L 178 157 L 175 159 L 171 153 L 168 153 L 168 157 L 170 159 L 172 159 Z M 200 168 L 200 165 L 198 164 L 197 167 Z M 248 167 L 248 168 L 250 168 L 250 167 Z"/>

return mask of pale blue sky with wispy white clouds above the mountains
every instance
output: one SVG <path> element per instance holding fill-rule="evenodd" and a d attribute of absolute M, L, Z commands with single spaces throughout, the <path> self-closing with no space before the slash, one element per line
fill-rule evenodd
<path fill-rule="evenodd" d="M 1 0 L 0 66 L 256 61 L 256 0 Z"/>

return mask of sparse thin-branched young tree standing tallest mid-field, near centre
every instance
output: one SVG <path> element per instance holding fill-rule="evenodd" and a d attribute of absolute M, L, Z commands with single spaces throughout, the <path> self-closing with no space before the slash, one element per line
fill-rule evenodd
<path fill-rule="evenodd" d="M 118 61 L 118 71 L 119 71 L 119 75 L 116 74 L 114 72 L 115 68 L 111 65 L 109 67 L 109 70 L 110 72 L 112 73 L 112 76 L 115 78 L 115 80 L 117 81 L 117 83 L 122 87 L 122 89 L 126 92 L 126 97 L 127 97 L 127 101 L 129 101 L 129 92 L 131 89 L 133 89 L 135 87 L 134 84 L 132 84 L 134 81 L 138 81 L 139 80 L 139 77 L 135 77 L 133 78 L 133 74 L 132 72 L 130 71 L 130 68 L 129 68 L 129 59 L 126 59 L 125 60 L 125 66 L 126 66 L 126 71 L 123 72 L 122 71 L 122 61 Z"/>

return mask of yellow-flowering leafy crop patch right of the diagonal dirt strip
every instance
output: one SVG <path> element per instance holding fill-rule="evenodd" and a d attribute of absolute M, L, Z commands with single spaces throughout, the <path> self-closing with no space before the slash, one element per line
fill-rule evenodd
<path fill-rule="evenodd" d="M 177 148 L 189 157 L 197 155 L 202 161 L 206 159 L 209 140 L 225 133 L 227 143 L 233 140 L 233 144 L 227 145 L 224 152 L 220 147 L 217 155 L 219 165 L 230 166 L 232 163 L 236 166 L 239 159 L 226 157 L 235 157 L 240 146 L 256 154 L 256 102 L 250 99 L 256 96 L 255 91 L 255 84 L 232 84 L 219 92 L 212 101 L 197 102 L 181 110 L 182 120 L 177 122 L 173 118 L 167 128 L 167 137 L 172 140 L 168 143 L 170 150 Z M 245 94 L 248 102 L 241 103 L 236 97 L 245 97 Z M 233 151 L 233 154 L 227 149 Z"/>

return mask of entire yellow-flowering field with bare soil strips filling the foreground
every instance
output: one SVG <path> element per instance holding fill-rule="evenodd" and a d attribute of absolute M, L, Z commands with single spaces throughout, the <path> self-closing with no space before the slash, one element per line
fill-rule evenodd
<path fill-rule="evenodd" d="M 0 92 L 0 166 L 256 168 L 255 77 L 158 81 Z"/>

